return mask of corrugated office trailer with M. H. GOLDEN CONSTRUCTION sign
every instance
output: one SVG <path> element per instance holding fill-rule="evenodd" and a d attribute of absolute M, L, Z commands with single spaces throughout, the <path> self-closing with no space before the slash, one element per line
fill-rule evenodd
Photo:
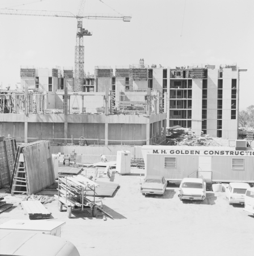
<path fill-rule="evenodd" d="M 254 151 L 248 147 L 142 146 L 145 176 L 177 182 L 200 177 L 207 183 L 254 183 Z"/>

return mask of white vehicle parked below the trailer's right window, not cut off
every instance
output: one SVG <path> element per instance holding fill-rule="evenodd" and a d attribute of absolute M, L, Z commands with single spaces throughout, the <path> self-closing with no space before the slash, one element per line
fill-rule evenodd
<path fill-rule="evenodd" d="M 248 183 L 231 182 L 226 187 L 226 198 L 231 204 L 244 204 L 246 190 L 250 188 Z"/>

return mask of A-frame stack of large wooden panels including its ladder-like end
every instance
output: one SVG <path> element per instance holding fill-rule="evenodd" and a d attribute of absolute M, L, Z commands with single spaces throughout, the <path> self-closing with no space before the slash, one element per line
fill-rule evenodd
<path fill-rule="evenodd" d="M 55 176 L 49 141 L 18 146 L 11 180 L 11 195 L 31 195 L 54 183 Z"/>

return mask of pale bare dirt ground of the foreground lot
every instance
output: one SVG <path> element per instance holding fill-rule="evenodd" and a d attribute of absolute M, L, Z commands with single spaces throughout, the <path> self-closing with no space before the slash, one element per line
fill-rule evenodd
<path fill-rule="evenodd" d="M 104 210 L 115 220 L 91 218 L 84 212 L 59 212 L 46 204 L 56 221 L 65 221 L 61 237 L 81 255 L 252 255 L 254 215 L 242 205 L 228 205 L 224 192 L 207 192 L 204 202 L 180 201 L 169 184 L 164 196 L 142 196 L 138 175 L 116 175 L 120 188 L 104 198 Z M 17 205 L 20 197 L 9 201 Z M 0 214 L 0 223 L 28 219 L 18 206 Z M 34 220 L 36 221 L 36 220 Z M 46 220 L 44 220 L 46 221 Z M 53 221 L 53 220 L 52 220 Z"/>

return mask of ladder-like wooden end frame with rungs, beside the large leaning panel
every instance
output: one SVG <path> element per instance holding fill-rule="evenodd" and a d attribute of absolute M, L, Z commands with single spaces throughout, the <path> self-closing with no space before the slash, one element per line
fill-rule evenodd
<path fill-rule="evenodd" d="M 23 155 L 23 154 L 20 154 L 20 155 Z M 22 188 L 26 188 L 26 191 L 24 191 Z M 22 157 L 22 156 L 19 158 L 18 167 L 16 168 L 16 172 L 13 177 L 11 195 L 13 196 L 14 193 L 27 193 L 28 194 L 26 163 L 24 162 L 24 157 Z"/>

